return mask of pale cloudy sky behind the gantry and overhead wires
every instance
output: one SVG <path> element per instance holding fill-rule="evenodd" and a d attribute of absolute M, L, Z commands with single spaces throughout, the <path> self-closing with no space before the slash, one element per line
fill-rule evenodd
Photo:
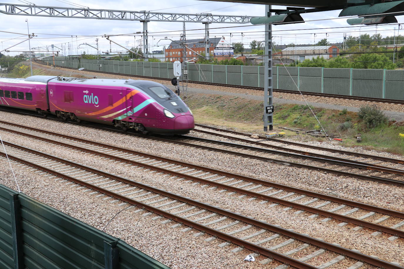
<path fill-rule="evenodd" d="M 4 1 L 7 2 L 7 1 Z M 25 4 L 26 0 L 10 0 L 9 3 Z M 59 7 L 78 7 L 85 6 L 89 8 L 99 9 L 113 9 L 113 10 L 150 10 L 155 12 L 171 12 L 171 13 L 212 13 L 214 15 L 248 15 L 248 16 L 263 16 L 265 14 L 265 7 L 258 4 L 237 4 L 226 2 L 210 2 L 210 1 L 196 1 L 196 0 L 121 0 L 121 1 L 108 1 L 108 0 L 35 0 L 34 4 L 38 6 L 59 6 Z M 281 8 L 280 6 L 273 6 L 273 8 Z M 3 8 L 4 10 L 4 8 Z M 308 13 L 302 15 L 305 21 L 317 19 L 331 19 L 337 18 L 340 10 L 328 11 L 322 13 Z M 404 22 L 404 16 L 397 17 L 399 23 Z M 65 52 L 70 54 L 82 53 L 95 53 L 96 50 L 87 45 L 96 46 L 96 38 L 99 39 L 100 52 L 109 50 L 109 42 L 102 37 L 102 35 L 110 34 L 128 34 L 143 31 L 142 23 L 139 21 L 112 21 L 112 20 L 95 20 L 95 19 L 71 19 L 71 18 L 48 18 L 48 17 L 34 17 L 34 16 L 15 16 L 5 15 L 0 13 L 0 31 L 9 31 L 15 33 L 27 33 L 28 19 L 29 32 L 35 33 L 36 36 L 31 40 L 31 47 L 47 48 L 54 44 L 58 48 L 62 48 Z M 245 24 L 249 25 L 249 24 Z M 210 24 L 210 36 L 221 37 L 230 42 L 242 42 L 246 48 L 252 40 L 263 40 L 262 25 L 248 26 L 239 24 L 223 24 L 216 23 Z M 244 27 L 235 27 L 244 26 Z M 202 23 L 186 23 L 187 38 L 203 38 L 204 25 Z M 231 27 L 220 28 L 217 27 Z M 343 27 L 343 28 L 333 28 Z M 346 27 L 346 28 L 345 28 Z M 381 25 L 381 26 L 362 26 L 362 27 L 349 27 L 346 19 L 333 19 L 323 21 L 308 21 L 306 23 L 291 24 L 291 25 L 274 25 L 273 27 L 273 41 L 276 44 L 315 44 L 323 38 L 327 38 L 329 42 L 342 42 L 343 34 L 347 36 L 358 36 L 359 33 L 381 33 L 383 36 L 393 35 L 394 27 L 396 27 L 396 34 L 398 32 L 398 25 Z M 162 40 L 162 38 L 169 38 L 179 40 L 179 35 L 182 31 L 182 23 L 173 22 L 150 22 L 148 23 L 149 31 L 149 51 L 161 50 L 162 46 L 167 45 L 170 41 Z M 319 29 L 325 28 L 325 29 Z M 332 29 L 333 28 L 333 29 Z M 199 29 L 199 30 L 198 30 Z M 193 30 L 193 31 L 190 31 Z M 404 34 L 404 29 L 401 30 Z M 11 40 L 10 40 L 11 39 Z M 0 50 L 13 46 L 21 42 L 23 37 L 18 34 L 0 33 Z M 141 40 L 141 35 L 132 34 L 126 36 L 116 36 L 114 41 L 122 44 L 123 46 L 133 47 L 138 46 Z M 79 47 L 79 48 L 78 48 Z M 10 50 L 27 50 L 29 48 L 28 42 L 13 47 Z M 69 49 L 70 48 L 70 49 Z M 50 48 L 49 48 L 50 49 Z M 69 51 L 68 51 L 69 50 Z M 112 52 L 121 51 L 122 48 L 112 44 Z M 15 53 L 9 53 L 13 55 Z"/>

